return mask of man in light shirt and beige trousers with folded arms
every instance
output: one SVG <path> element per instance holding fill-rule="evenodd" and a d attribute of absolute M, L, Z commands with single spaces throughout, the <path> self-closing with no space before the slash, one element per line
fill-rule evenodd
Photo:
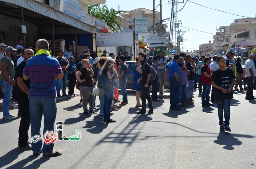
<path fill-rule="evenodd" d="M 158 83 L 159 86 L 159 94 L 164 94 L 164 81 L 166 78 L 166 70 L 165 65 L 167 64 L 166 58 L 164 57 L 164 52 L 160 51 L 158 54 Z"/>

